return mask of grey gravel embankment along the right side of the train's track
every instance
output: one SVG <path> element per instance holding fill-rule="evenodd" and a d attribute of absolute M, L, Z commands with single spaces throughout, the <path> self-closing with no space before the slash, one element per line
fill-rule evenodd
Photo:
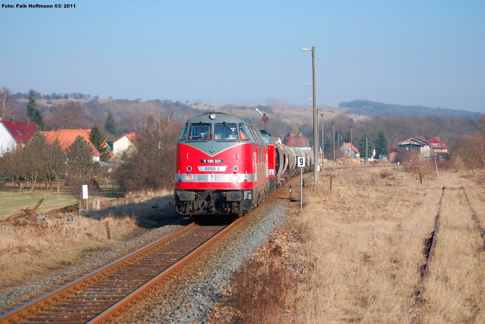
<path fill-rule="evenodd" d="M 239 230 L 202 252 L 168 284 L 147 294 L 115 322 L 207 323 L 207 315 L 228 279 L 253 255 L 270 232 L 286 222 L 286 200 L 271 199 L 253 210 Z"/>

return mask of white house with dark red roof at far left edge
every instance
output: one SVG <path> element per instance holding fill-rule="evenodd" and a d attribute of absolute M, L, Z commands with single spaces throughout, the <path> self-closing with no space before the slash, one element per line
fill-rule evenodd
<path fill-rule="evenodd" d="M 0 156 L 21 149 L 32 139 L 37 123 L 29 121 L 9 121 L 0 119 Z"/>

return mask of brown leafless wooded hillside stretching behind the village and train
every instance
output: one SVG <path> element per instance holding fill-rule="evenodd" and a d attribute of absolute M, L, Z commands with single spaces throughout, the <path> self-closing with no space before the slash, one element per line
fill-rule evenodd
<path fill-rule="evenodd" d="M 264 128 L 261 124 L 261 115 L 255 111 L 259 108 L 267 113 L 269 122 L 267 130 L 275 137 L 283 139 L 290 131 L 297 133 L 301 131 L 304 136 L 309 138 L 310 145 L 313 145 L 313 122 L 308 119 L 296 119 L 291 122 L 284 121 L 282 115 L 285 109 L 292 109 L 291 106 L 271 107 L 271 106 L 232 106 L 225 105 L 222 107 L 208 107 L 181 103 L 172 100 L 147 100 L 141 99 L 98 99 L 97 96 L 86 99 L 40 99 L 43 95 L 37 96 L 37 107 L 42 113 L 46 130 L 59 128 L 92 128 L 95 124 L 100 125 L 103 135 L 107 140 L 116 139 L 119 135 L 138 131 L 143 127 L 142 121 L 149 116 L 167 116 L 172 122 L 185 123 L 185 121 L 195 115 L 203 112 L 213 111 L 225 112 L 238 116 L 255 127 Z M 52 96 L 51 96 L 52 98 Z M 27 99 L 10 96 L 9 113 L 4 116 L 5 119 L 15 118 L 23 119 L 27 116 Z M 404 107 L 399 105 L 391 105 Z M 274 112 L 278 108 L 278 113 Z M 449 109 L 450 110 L 450 109 Z M 286 110 L 288 111 L 288 110 Z M 370 142 L 377 138 L 378 133 L 382 130 L 390 143 L 390 147 L 396 147 L 397 143 L 410 137 L 423 136 L 431 138 L 440 136 L 449 146 L 457 145 L 463 140 L 471 138 L 477 129 L 479 113 L 471 113 L 465 116 L 453 116 L 447 114 L 428 114 L 413 115 L 412 110 L 407 115 L 386 115 L 372 114 L 372 116 L 358 121 L 351 118 L 348 114 L 338 114 L 333 118 L 323 119 L 323 131 L 325 136 L 325 151 L 330 150 L 332 143 L 333 127 L 335 125 L 336 145 L 342 141 L 349 142 L 352 138 L 353 143 L 358 147 L 358 143 L 365 134 L 368 135 Z M 108 119 L 113 125 L 108 129 L 103 129 Z M 320 123 L 319 118 L 319 123 Z M 321 125 L 319 125 L 321 127 Z M 321 128 L 319 130 L 319 136 Z"/>

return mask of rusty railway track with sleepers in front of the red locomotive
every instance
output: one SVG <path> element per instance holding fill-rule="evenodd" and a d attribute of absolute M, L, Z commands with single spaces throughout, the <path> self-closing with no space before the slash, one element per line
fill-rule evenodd
<path fill-rule="evenodd" d="M 99 323 L 135 302 L 242 221 L 186 227 L 0 317 L 0 323 Z"/>

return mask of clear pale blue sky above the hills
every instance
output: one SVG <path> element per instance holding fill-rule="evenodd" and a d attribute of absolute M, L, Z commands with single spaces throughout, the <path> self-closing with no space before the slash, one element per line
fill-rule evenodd
<path fill-rule="evenodd" d="M 311 105 L 315 46 L 319 106 L 485 112 L 484 0 L 57 2 L 76 7 L 0 8 L 0 87 Z"/>

